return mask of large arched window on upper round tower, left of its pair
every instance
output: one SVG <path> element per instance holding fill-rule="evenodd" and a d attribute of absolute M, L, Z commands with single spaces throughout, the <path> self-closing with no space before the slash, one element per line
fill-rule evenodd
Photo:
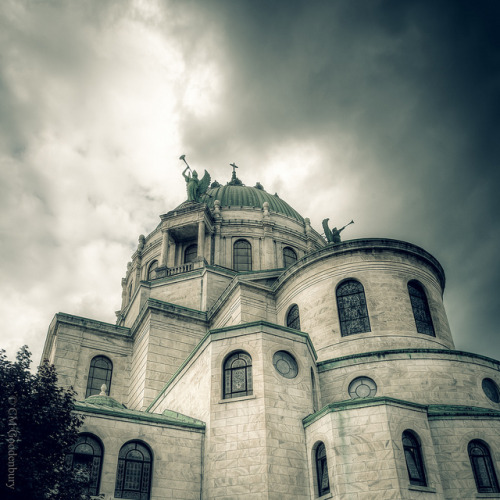
<path fill-rule="evenodd" d="M 337 308 L 342 337 L 371 331 L 365 290 L 359 281 L 347 280 L 337 287 Z"/>

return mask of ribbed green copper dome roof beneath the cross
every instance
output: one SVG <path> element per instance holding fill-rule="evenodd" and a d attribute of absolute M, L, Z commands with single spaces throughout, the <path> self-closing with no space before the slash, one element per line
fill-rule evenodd
<path fill-rule="evenodd" d="M 299 222 L 304 218 L 277 194 L 272 195 L 261 188 L 227 184 L 211 187 L 200 197 L 202 203 L 213 208 L 214 201 L 219 200 L 221 207 L 254 207 L 262 208 L 265 201 L 269 203 L 269 211 L 292 217 Z"/>

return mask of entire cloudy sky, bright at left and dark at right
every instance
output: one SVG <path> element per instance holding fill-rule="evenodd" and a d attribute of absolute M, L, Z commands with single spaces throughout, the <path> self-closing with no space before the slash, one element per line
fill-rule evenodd
<path fill-rule="evenodd" d="M 500 4 L 0 4 L 0 346 L 114 323 L 140 234 L 229 163 L 321 231 L 447 274 L 456 348 L 500 359 Z"/>

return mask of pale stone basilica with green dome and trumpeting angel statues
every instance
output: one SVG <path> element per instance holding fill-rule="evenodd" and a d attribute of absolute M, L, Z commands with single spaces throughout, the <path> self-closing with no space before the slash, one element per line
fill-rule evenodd
<path fill-rule="evenodd" d="M 234 168 L 225 185 L 184 176 L 187 200 L 139 237 L 116 324 L 49 327 L 89 493 L 500 498 L 500 362 L 455 349 L 439 262 L 328 241 Z"/>

